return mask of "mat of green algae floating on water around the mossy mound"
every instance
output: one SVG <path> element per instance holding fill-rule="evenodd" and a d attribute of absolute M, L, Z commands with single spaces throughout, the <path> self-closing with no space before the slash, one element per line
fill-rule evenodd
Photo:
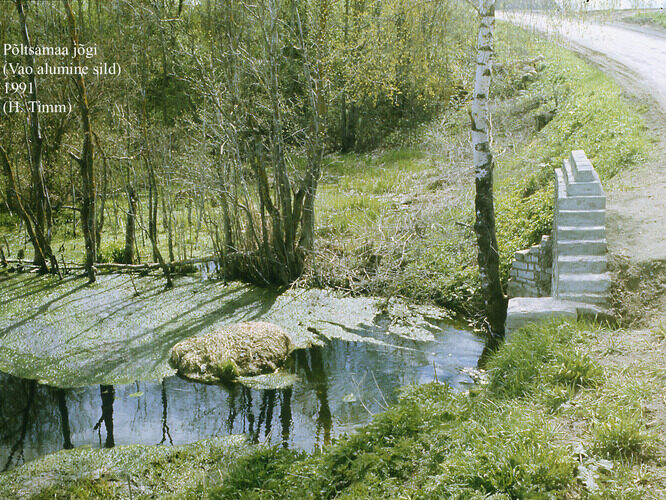
<path fill-rule="evenodd" d="M 164 290 L 162 278 L 153 276 L 100 275 L 89 285 L 76 276 L 0 273 L 0 303 L 0 371 L 57 387 L 174 375 L 173 345 L 231 323 L 275 323 L 301 349 L 332 338 L 428 341 L 446 318 L 442 310 L 424 314 L 396 301 L 386 310 L 374 298 L 280 293 L 192 276 Z"/>

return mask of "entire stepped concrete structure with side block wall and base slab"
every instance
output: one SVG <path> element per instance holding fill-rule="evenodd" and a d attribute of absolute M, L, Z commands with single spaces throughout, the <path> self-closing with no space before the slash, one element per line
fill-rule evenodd
<path fill-rule="evenodd" d="M 538 256 L 547 253 L 544 242 L 517 252 L 509 285 L 514 298 L 509 300 L 507 333 L 552 317 L 606 314 L 611 280 L 606 260 L 606 195 L 599 176 L 583 151 L 573 151 L 555 176 L 552 297 L 544 297 L 546 274 L 539 278 L 537 265 Z M 541 261 L 541 265 L 547 264 Z"/>

